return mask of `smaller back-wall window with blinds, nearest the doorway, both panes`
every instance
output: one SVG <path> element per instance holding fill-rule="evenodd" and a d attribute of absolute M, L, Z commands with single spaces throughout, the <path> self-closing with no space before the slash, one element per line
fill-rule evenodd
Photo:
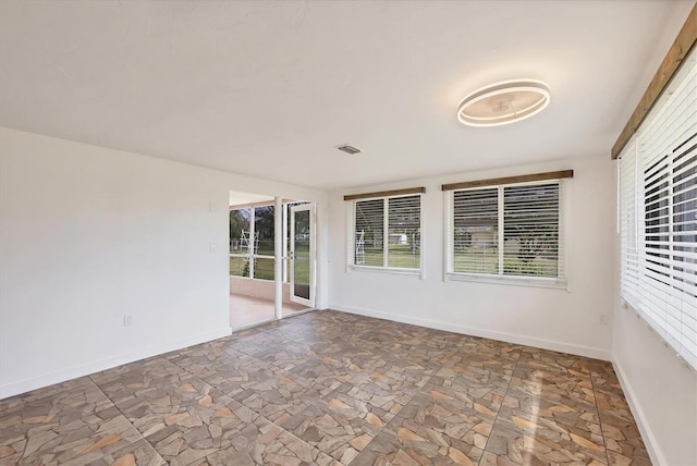
<path fill-rule="evenodd" d="M 352 268 L 421 269 L 421 195 L 353 200 Z"/>

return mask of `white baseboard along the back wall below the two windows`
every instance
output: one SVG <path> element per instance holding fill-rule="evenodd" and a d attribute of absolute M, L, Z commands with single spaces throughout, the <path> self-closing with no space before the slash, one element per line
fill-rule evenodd
<path fill-rule="evenodd" d="M 465 335 L 481 336 L 485 339 L 534 346 L 542 350 L 575 354 L 577 356 L 585 356 L 594 359 L 602 359 L 608 361 L 611 360 L 610 352 L 592 348 L 589 346 L 572 345 L 568 343 L 536 339 L 516 333 L 497 332 L 492 330 L 477 329 L 475 327 L 461 326 L 457 323 L 441 322 L 437 320 L 421 319 L 418 317 L 402 316 L 399 314 L 380 312 L 371 309 L 364 309 L 352 306 L 332 305 L 330 306 L 330 309 L 340 310 L 342 312 L 357 314 L 360 316 L 376 317 L 378 319 L 393 320 L 402 323 L 411 323 L 414 326 L 427 327 L 429 329 L 444 330 L 448 332 L 462 333 Z"/>

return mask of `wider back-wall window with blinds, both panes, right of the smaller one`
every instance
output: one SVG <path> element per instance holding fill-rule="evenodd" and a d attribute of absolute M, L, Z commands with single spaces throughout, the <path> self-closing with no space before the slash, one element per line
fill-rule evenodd
<path fill-rule="evenodd" d="M 559 180 L 448 192 L 449 278 L 565 283 Z"/>

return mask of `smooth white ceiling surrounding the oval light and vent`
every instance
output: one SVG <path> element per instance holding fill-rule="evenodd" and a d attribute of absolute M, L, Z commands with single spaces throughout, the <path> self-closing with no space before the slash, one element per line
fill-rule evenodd
<path fill-rule="evenodd" d="M 0 124 L 320 189 L 610 157 L 693 4 L 2 0 Z M 515 77 L 545 112 L 457 122 Z"/>

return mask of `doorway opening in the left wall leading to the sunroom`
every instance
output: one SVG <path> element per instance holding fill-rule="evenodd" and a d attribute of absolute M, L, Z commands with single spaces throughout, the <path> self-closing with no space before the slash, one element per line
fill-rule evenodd
<path fill-rule="evenodd" d="M 230 193 L 230 326 L 233 330 L 315 307 L 315 205 Z M 276 250 L 276 217 L 282 237 Z M 280 277 L 276 259 L 282 261 Z M 281 282 L 280 304 L 276 281 Z"/>

